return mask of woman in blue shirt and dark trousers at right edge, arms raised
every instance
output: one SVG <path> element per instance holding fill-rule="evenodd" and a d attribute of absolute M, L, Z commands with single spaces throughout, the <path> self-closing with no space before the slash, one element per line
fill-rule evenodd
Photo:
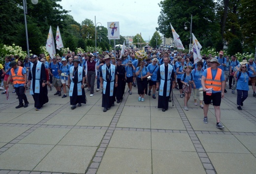
<path fill-rule="evenodd" d="M 254 72 L 248 72 L 246 64 L 244 62 L 240 62 L 241 66 L 235 67 L 236 72 L 234 74 L 234 77 L 237 77 L 237 85 L 236 85 L 236 90 L 237 90 L 237 109 L 242 110 L 241 106 L 244 105 L 244 100 L 248 97 L 248 91 L 249 91 L 249 76 L 256 75 L 256 72 L 254 68 L 251 66 L 250 69 Z"/>

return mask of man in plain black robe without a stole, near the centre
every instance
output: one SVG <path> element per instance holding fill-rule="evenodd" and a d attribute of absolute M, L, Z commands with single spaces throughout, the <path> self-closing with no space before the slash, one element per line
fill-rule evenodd
<path fill-rule="evenodd" d="M 126 74 L 126 69 L 122 65 L 122 60 L 117 59 L 117 76 L 118 76 L 118 81 L 117 81 L 118 88 L 116 88 L 117 103 L 120 103 L 123 100 L 123 96 L 125 94 L 125 87 L 126 87 L 125 74 Z"/>

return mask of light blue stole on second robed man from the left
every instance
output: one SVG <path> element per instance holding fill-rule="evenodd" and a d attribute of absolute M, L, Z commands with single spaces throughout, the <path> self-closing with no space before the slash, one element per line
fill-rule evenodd
<path fill-rule="evenodd" d="M 71 79 L 70 88 L 69 88 L 69 96 L 73 96 L 74 82 L 73 82 L 73 70 L 74 66 L 69 69 L 69 77 Z M 77 96 L 82 96 L 82 81 L 83 81 L 83 67 L 78 66 L 78 83 L 77 83 Z"/>

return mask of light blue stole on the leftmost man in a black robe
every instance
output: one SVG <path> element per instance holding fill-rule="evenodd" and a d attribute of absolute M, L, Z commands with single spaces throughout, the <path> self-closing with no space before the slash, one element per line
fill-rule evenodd
<path fill-rule="evenodd" d="M 40 79 L 41 79 L 42 63 L 40 61 L 37 61 L 36 68 L 35 68 L 35 77 L 33 77 L 33 73 L 32 73 L 33 66 L 34 66 L 34 64 L 32 63 L 30 65 L 30 72 L 31 72 L 31 75 L 32 75 L 31 85 L 30 85 L 30 94 L 31 95 L 34 95 L 34 93 L 37 93 L 37 94 L 40 93 Z M 43 70 L 43 71 L 45 71 L 45 70 Z M 34 83 L 34 93 L 33 93 L 33 78 L 35 80 L 35 83 Z"/>

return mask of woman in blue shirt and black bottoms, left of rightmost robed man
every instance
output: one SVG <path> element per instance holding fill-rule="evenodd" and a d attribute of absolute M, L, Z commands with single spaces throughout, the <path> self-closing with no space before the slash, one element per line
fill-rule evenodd
<path fill-rule="evenodd" d="M 144 101 L 145 94 L 148 93 L 148 81 L 147 77 L 149 76 L 149 70 L 147 67 L 144 67 L 145 62 L 141 61 L 140 66 L 137 67 L 135 75 L 137 76 L 137 85 L 138 85 L 138 101 Z"/>

